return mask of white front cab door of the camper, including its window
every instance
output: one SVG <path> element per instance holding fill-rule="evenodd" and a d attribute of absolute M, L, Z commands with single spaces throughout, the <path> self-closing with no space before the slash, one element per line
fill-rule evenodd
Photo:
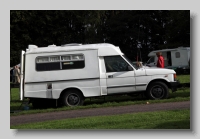
<path fill-rule="evenodd" d="M 135 91 L 133 68 L 121 56 L 105 56 L 108 94 Z"/>

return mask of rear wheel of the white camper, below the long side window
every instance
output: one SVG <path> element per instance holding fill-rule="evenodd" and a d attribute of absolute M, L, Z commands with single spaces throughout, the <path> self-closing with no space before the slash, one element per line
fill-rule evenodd
<path fill-rule="evenodd" d="M 75 89 L 68 90 L 62 99 L 65 106 L 81 106 L 84 103 L 82 93 Z"/>

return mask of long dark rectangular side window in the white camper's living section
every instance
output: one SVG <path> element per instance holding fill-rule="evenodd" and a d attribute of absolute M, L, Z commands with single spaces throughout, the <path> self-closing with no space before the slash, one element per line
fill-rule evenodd
<path fill-rule="evenodd" d="M 85 60 L 82 54 L 36 58 L 37 71 L 80 69 L 84 67 Z"/>

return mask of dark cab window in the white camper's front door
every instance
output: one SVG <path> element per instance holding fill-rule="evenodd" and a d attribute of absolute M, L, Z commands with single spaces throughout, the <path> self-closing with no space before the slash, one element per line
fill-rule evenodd
<path fill-rule="evenodd" d="M 129 71 L 128 63 L 121 56 L 104 57 L 106 72 Z"/>

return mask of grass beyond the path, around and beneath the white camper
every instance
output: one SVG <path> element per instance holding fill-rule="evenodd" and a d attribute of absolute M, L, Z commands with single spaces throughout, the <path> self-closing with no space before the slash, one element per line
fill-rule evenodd
<path fill-rule="evenodd" d="M 190 82 L 189 75 L 178 76 L 180 83 Z M 105 100 L 103 98 L 92 98 L 86 99 L 84 106 L 77 107 L 49 107 L 44 109 L 34 109 L 30 105 L 30 110 L 23 110 L 21 106 L 21 101 L 19 101 L 19 89 L 11 89 L 11 101 L 10 101 L 10 111 L 11 116 L 22 115 L 22 114 L 33 114 L 33 113 L 44 113 L 53 111 L 66 111 L 73 109 L 88 109 L 88 108 L 99 108 L 99 107 L 114 107 L 114 106 L 124 106 L 124 105 L 134 105 L 134 104 L 146 104 L 150 103 L 165 103 L 165 102 L 177 102 L 177 101 L 189 101 L 190 100 L 190 88 L 179 88 L 175 93 L 170 92 L 169 98 L 164 100 L 147 100 L 141 96 L 130 97 L 127 95 L 120 96 L 106 96 Z M 20 110 L 20 111 L 19 111 Z M 17 111 L 17 112 L 16 112 Z"/>

